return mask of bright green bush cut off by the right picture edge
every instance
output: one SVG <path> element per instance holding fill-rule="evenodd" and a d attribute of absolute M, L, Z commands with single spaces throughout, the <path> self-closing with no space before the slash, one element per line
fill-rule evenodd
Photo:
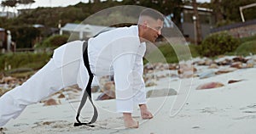
<path fill-rule="evenodd" d="M 256 40 L 242 43 L 236 48 L 236 54 L 244 56 L 256 54 Z"/>

